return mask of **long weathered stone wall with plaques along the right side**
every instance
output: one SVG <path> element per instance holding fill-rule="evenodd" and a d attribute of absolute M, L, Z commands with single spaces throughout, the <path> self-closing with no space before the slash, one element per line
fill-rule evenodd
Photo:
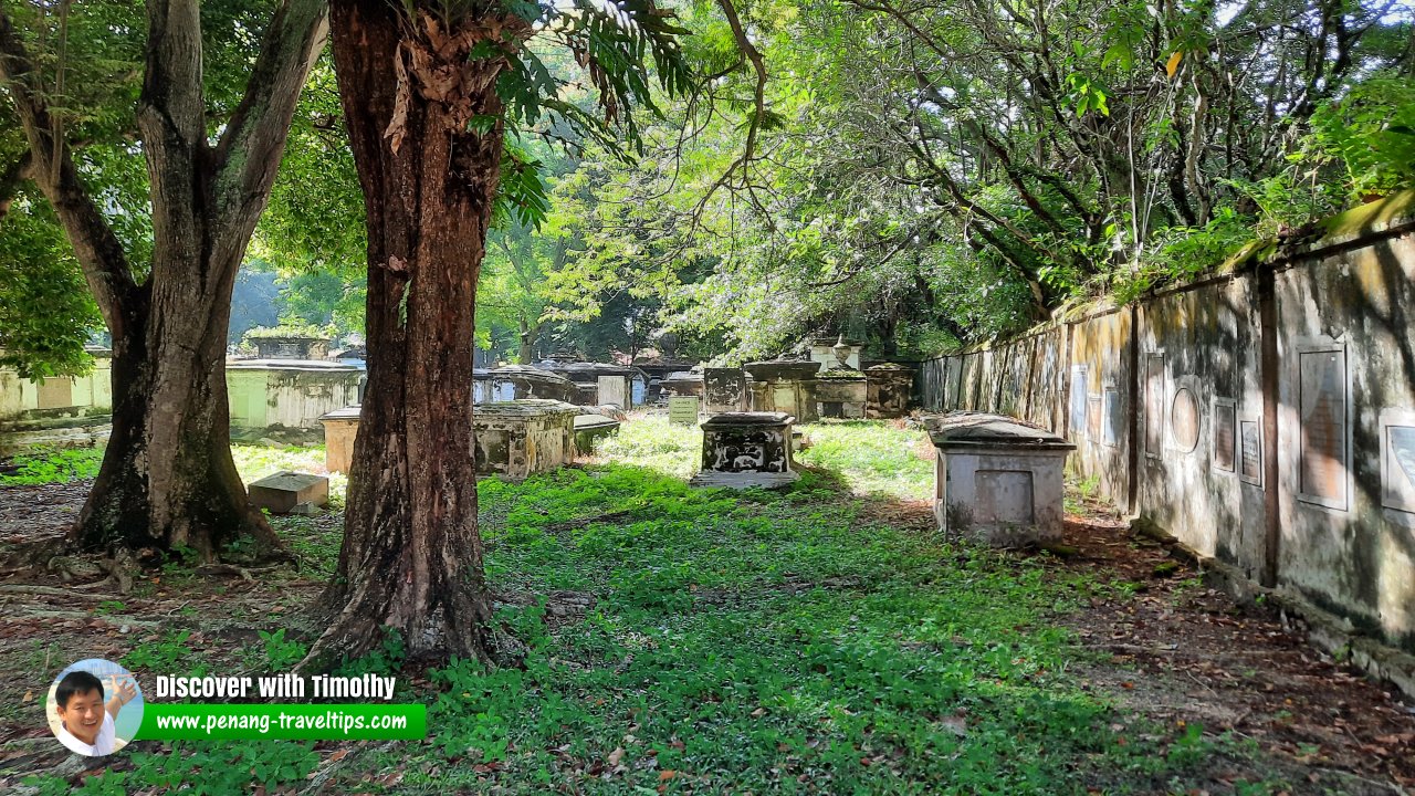
<path fill-rule="evenodd" d="M 927 361 L 921 398 L 1063 435 L 1122 511 L 1412 660 L 1415 194 L 1323 229 Z"/>

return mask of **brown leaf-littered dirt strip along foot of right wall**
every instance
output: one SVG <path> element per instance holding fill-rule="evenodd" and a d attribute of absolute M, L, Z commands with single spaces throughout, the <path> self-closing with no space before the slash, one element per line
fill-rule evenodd
<path fill-rule="evenodd" d="M 1078 554 L 1063 567 L 1108 568 L 1138 589 L 1095 599 L 1071 622 L 1115 664 L 1085 673 L 1095 688 L 1157 721 L 1251 739 L 1290 763 L 1299 792 L 1415 789 L 1415 707 L 1307 644 L 1299 620 L 1204 588 L 1193 567 L 1116 520 L 1071 517 L 1065 544 Z"/>

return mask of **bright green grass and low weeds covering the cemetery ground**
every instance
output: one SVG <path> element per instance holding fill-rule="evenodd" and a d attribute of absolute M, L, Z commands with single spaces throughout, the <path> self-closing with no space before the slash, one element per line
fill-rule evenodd
<path fill-rule="evenodd" d="M 1057 619 L 1105 584 L 880 523 L 879 497 L 839 490 L 920 497 L 916 435 L 812 426 L 822 472 L 730 491 L 683 483 L 695 433 L 638 419 L 590 467 L 483 480 L 487 576 L 524 667 L 432 671 L 402 697 L 427 703 L 429 738 L 354 748 L 331 792 L 1152 793 L 1230 754 L 1193 725 L 1132 727 L 1081 687 L 1071 669 L 1097 661 Z M 548 610 L 566 591 L 593 598 L 583 616 Z M 275 633 L 252 660 L 303 650 Z M 239 742 L 130 759 L 79 792 L 303 786 L 318 755 Z"/>

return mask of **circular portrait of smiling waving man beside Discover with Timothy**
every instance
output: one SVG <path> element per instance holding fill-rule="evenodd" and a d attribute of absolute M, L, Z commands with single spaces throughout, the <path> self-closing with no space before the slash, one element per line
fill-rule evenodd
<path fill-rule="evenodd" d="M 71 751 L 112 755 L 143 725 L 143 693 L 132 671 L 91 657 L 59 673 L 50 686 L 45 714 L 50 731 Z"/>

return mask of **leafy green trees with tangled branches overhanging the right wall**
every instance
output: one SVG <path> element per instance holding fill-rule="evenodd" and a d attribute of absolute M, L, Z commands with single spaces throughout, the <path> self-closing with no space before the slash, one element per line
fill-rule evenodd
<path fill-rule="evenodd" d="M 1411 18 L 1390 3 L 743 7 L 634 169 L 586 159 L 570 283 L 652 292 L 737 356 L 818 327 L 931 353 L 1133 296 L 1412 184 Z M 743 132 L 749 142 L 743 143 Z M 753 137 L 754 133 L 754 137 Z M 689 271 L 698 262 L 706 272 Z"/>

